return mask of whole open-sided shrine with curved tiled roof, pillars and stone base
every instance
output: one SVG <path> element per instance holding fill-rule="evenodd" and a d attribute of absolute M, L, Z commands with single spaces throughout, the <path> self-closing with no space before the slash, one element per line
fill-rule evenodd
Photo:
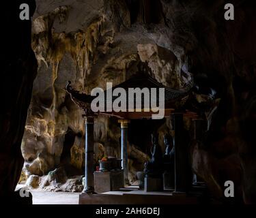
<path fill-rule="evenodd" d="M 123 88 L 126 91 L 128 91 L 129 88 L 155 88 L 155 89 L 165 89 L 165 117 L 170 117 L 171 121 L 173 121 L 173 131 L 174 131 L 174 137 L 173 137 L 173 164 L 167 164 L 165 167 L 163 165 L 162 159 L 162 152 L 160 151 L 160 147 L 157 146 L 156 143 L 158 143 L 158 136 L 152 135 L 152 144 L 153 144 L 153 151 L 152 151 L 152 159 L 150 162 L 145 163 L 145 192 L 152 193 L 152 191 L 162 191 L 161 195 L 165 196 L 164 191 L 164 180 L 165 183 L 167 183 L 167 178 L 164 176 L 164 169 L 167 167 L 167 172 L 173 172 L 173 190 L 169 189 L 169 192 L 167 192 L 167 196 L 171 194 L 171 196 L 177 196 L 177 194 L 184 193 L 186 196 L 186 193 L 188 192 L 188 187 L 192 185 L 192 181 L 189 181 L 187 178 L 188 174 L 191 174 L 188 170 L 188 153 L 187 153 L 187 147 L 188 144 L 184 142 L 184 117 L 187 117 L 191 120 L 198 119 L 197 112 L 193 112 L 190 110 L 186 110 L 186 102 L 188 100 L 188 97 L 190 96 L 191 89 L 193 88 L 193 84 L 191 84 L 190 87 L 188 87 L 187 90 L 181 91 L 181 90 L 175 90 L 168 87 L 165 87 L 163 84 L 160 84 L 160 82 L 157 82 L 154 78 L 151 76 L 145 74 L 145 73 L 138 73 L 135 76 L 132 76 L 129 80 L 126 80 L 125 82 L 118 84 L 116 87 L 113 87 L 113 89 L 117 88 Z M 94 101 L 93 96 L 86 95 L 84 93 L 79 93 L 78 91 L 74 90 L 68 82 L 66 91 L 70 94 L 71 99 L 85 111 L 84 117 L 85 117 L 85 189 L 83 190 L 83 193 L 81 193 L 81 196 L 79 198 L 79 202 L 81 204 L 85 203 L 88 204 L 87 200 L 89 199 L 89 202 L 94 202 L 94 198 L 98 199 L 99 196 L 115 196 L 111 194 L 111 191 L 115 193 L 116 191 L 126 189 L 130 191 L 136 191 L 133 187 L 130 187 L 129 181 L 128 181 L 128 125 L 131 120 L 134 119 L 152 119 L 152 111 L 145 111 L 145 110 L 134 110 L 126 112 L 115 112 L 115 111 L 99 111 L 99 112 L 93 112 L 90 108 L 91 102 Z M 107 92 L 106 90 L 105 92 Z M 128 95 L 127 95 L 128 96 Z M 106 99 L 104 99 L 106 101 Z M 115 98 L 112 99 L 113 101 Z M 128 101 L 128 99 L 127 99 Z M 134 99 L 136 101 L 136 99 Z M 142 98 L 142 102 L 150 101 L 150 99 Z M 159 99 L 158 99 L 159 102 Z M 122 160 L 122 169 L 119 169 L 119 177 L 115 178 L 116 180 L 123 180 L 123 182 L 119 181 L 119 185 L 115 188 L 111 187 L 111 183 L 114 183 L 113 180 L 113 173 L 114 172 L 94 172 L 94 119 L 99 116 L 111 116 L 118 119 L 118 122 L 121 125 L 121 157 L 118 157 Z M 168 140 L 168 139 L 166 139 Z M 169 142 L 167 142 L 169 143 Z M 159 149 L 158 149 L 159 147 Z M 157 162 L 159 159 L 159 163 Z M 170 169 L 168 169 L 168 167 Z M 162 171 L 161 171 L 162 168 Z M 155 170 L 154 170 L 155 169 Z M 104 171 L 104 170 L 102 170 Z M 121 174 L 120 174 L 121 172 Z M 110 173 L 110 174 L 109 174 Z M 116 174 L 116 172 L 115 172 Z M 102 176 L 104 176 L 104 183 L 99 182 L 102 180 Z M 110 179 L 110 180 L 109 180 Z M 95 181 L 96 180 L 96 181 Z M 108 181 L 108 182 L 106 182 Z M 99 183 L 102 184 L 102 188 L 98 188 Z M 116 182 L 115 182 L 116 183 Z M 107 185 L 109 184 L 109 185 Z M 121 184 L 121 185 L 120 185 Z M 122 187 L 122 184 L 124 187 Z M 99 190 L 106 190 L 105 193 L 96 193 L 96 189 Z M 105 186 L 105 188 L 104 188 Z M 165 184 L 165 186 L 169 187 L 170 185 Z M 107 188 L 109 187 L 109 188 Z M 165 190 L 168 188 L 165 187 Z M 109 192 L 110 191 L 110 192 Z M 103 191 L 102 191 L 103 192 Z M 143 194 L 145 193 L 143 192 Z M 158 193 L 157 192 L 157 193 Z M 109 193 L 106 194 L 106 193 Z M 127 192 L 128 193 L 128 192 Z M 139 194 L 139 193 L 138 193 Z M 88 197 L 89 195 L 89 197 Z M 104 197 L 102 199 L 104 199 Z M 119 196 L 120 197 L 120 196 Z M 87 199 L 88 198 L 88 199 Z M 148 196 L 147 196 L 148 198 Z M 125 200 L 122 200 L 125 202 Z"/>

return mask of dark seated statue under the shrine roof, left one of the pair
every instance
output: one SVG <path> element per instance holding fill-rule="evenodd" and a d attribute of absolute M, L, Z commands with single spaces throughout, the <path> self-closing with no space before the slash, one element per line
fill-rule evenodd
<path fill-rule="evenodd" d="M 158 144 L 158 134 L 152 134 L 152 148 L 151 154 L 152 158 L 150 161 L 145 163 L 144 172 L 146 176 L 158 177 L 162 174 L 162 149 Z"/>

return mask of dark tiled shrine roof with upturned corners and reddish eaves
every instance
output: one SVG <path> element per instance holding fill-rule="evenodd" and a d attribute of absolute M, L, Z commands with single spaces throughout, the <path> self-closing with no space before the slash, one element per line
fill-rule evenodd
<path fill-rule="evenodd" d="M 118 84 L 117 86 L 113 87 L 112 90 L 115 90 L 117 88 L 123 88 L 125 89 L 127 93 L 126 97 L 126 106 L 128 107 L 128 89 L 129 88 L 156 88 L 157 90 L 157 99 L 156 103 L 159 104 L 159 89 L 163 88 L 165 89 L 165 117 L 169 117 L 171 113 L 173 112 L 182 112 L 184 116 L 190 117 L 190 118 L 197 118 L 196 112 L 191 112 L 189 110 L 186 110 L 184 108 L 184 104 L 188 100 L 188 97 L 190 96 L 191 89 L 193 88 L 193 84 L 190 84 L 190 86 L 186 90 L 175 90 L 171 89 L 169 87 L 166 87 L 165 85 L 158 82 L 156 79 L 152 78 L 152 76 L 148 74 L 139 74 L 137 76 L 133 76 L 132 78 L 126 80 L 125 82 L 122 82 L 121 84 Z M 145 111 L 143 108 L 141 110 L 137 110 L 134 108 L 133 112 L 128 112 L 128 108 L 126 112 L 98 112 L 94 113 L 91 111 L 91 102 L 93 101 L 94 96 L 87 95 L 85 93 L 79 93 L 79 91 L 76 91 L 72 88 L 71 82 L 69 81 L 66 86 L 66 91 L 70 94 L 70 97 L 73 102 L 75 102 L 80 108 L 85 110 L 86 114 L 105 114 L 107 116 L 115 116 L 118 119 L 151 119 L 152 118 L 152 111 L 150 112 Z M 106 90 L 104 91 L 104 96 L 106 96 Z M 112 101 L 114 102 L 117 97 L 112 98 Z M 143 99 L 141 98 L 141 105 L 144 105 L 144 101 L 149 101 L 150 99 Z M 106 97 L 104 98 L 105 104 L 107 103 Z M 112 103 L 113 103 L 112 102 Z M 135 106 L 135 104 L 134 104 Z M 87 116 L 87 115 L 86 115 Z"/>

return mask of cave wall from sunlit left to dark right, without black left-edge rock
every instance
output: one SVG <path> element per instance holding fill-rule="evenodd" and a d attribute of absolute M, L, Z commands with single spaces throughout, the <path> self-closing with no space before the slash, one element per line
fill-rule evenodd
<path fill-rule="evenodd" d="M 236 21 L 224 19 L 224 5 L 230 3 L 224 0 L 36 1 L 32 47 L 39 69 L 22 146 L 27 170 L 47 174 L 66 159 L 61 155 L 76 170 L 83 168 L 83 112 L 64 91 L 66 81 L 89 93 L 94 87 L 104 89 L 106 82 L 127 80 L 145 63 L 149 73 L 168 87 L 186 89 L 194 79 L 202 89 L 216 91 L 218 110 L 203 142 L 205 149 L 197 156 L 197 163 L 207 167 L 193 170 L 212 178 L 205 181 L 221 190 L 220 197 L 223 181 L 236 174 L 232 166 L 241 163 L 242 169 L 236 169 L 245 176 L 237 179 L 238 185 L 244 180 L 244 196 L 255 198 L 254 181 L 248 180 L 255 174 L 249 167 L 255 162 L 255 3 L 231 2 Z M 169 121 L 164 122 L 158 126 L 162 134 L 170 131 Z M 96 159 L 103 153 L 118 156 L 117 121 L 100 116 L 95 129 Z M 147 142 L 136 143 L 145 152 Z M 206 164 L 205 158 L 212 161 Z M 222 170 L 223 166 L 229 167 Z"/>

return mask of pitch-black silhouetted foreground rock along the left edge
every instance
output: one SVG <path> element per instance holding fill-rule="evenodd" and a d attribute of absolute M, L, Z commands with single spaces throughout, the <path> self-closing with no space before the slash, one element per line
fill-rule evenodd
<path fill-rule="evenodd" d="M 19 5 L 35 1 L 3 3 L 1 28 L 0 196 L 18 200 L 14 189 L 24 159 L 20 152 L 37 61 L 31 49 L 31 20 L 20 20 Z M 7 198 L 9 197 L 9 198 Z"/>

